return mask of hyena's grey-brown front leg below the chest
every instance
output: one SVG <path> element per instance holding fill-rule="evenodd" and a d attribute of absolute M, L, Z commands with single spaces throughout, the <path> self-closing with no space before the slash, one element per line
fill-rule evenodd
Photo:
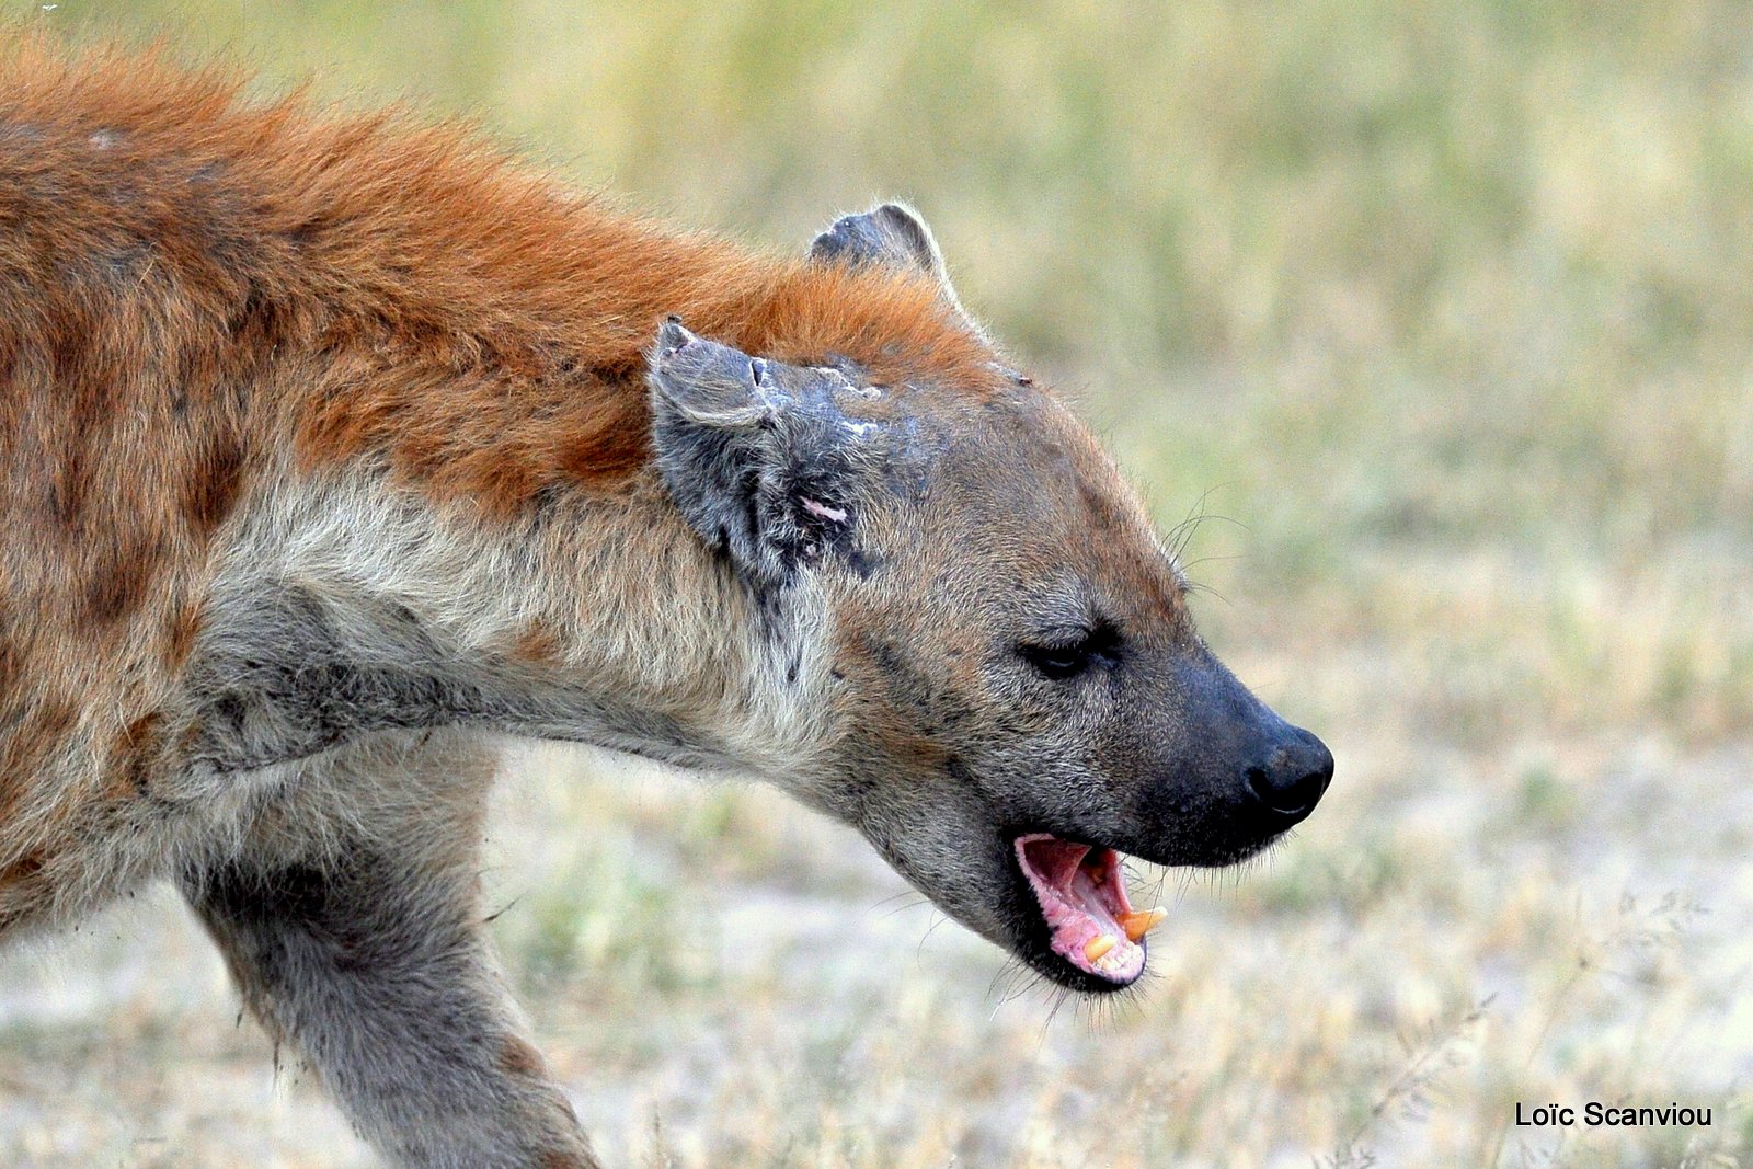
<path fill-rule="evenodd" d="M 277 815 L 258 832 L 272 845 L 191 873 L 189 903 L 251 1011 L 393 1164 L 594 1169 L 482 927 L 486 785 L 468 766 L 440 785 L 440 762 L 458 761 L 405 755 L 310 776 L 300 803 L 331 813 Z M 344 796 L 352 785 L 372 806 Z"/>

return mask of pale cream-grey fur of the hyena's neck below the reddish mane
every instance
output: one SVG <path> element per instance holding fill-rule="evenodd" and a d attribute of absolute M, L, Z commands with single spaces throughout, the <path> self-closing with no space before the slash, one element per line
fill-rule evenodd
<path fill-rule="evenodd" d="M 473 726 L 784 776 L 833 738 L 819 598 L 759 605 L 649 477 L 508 519 L 358 464 L 235 531 L 186 675 L 195 771 Z"/>

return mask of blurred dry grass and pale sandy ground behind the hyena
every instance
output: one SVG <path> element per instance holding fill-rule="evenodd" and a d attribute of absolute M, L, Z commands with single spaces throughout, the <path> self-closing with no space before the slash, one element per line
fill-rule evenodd
<path fill-rule="evenodd" d="M 1332 747 L 1269 859 L 1132 875 L 1171 918 L 1097 1008 L 761 789 L 535 757 L 494 929 L 608 1164 L 1753 1164 L 1753 9 L 0 11 L 775 245 L 912 198 Z M 237 1013 L 163 890 L 0 955 L 0 1162 L 366 1164 Z"/>

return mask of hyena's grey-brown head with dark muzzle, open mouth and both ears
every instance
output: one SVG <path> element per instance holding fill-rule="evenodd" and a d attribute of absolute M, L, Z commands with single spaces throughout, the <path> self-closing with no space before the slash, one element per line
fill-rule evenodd
<path fill-rule="evenodd" d="M 943 280 L 896 205 L 813 254 Z M 885 384 L 671 319 L 652 386 L 664 482 L 761 601 L 770 673 L 796 673 L 787 640 L 815 641 L 815 684 L 770 682 L 831 715 L 792 789 L 1036 971 L 1132 983 L 1159 915 L 1127 901 L 1118 854 L 1231 864 L 1325 792 L 1332 755 L 1199 640 L 1113 463 L 996 354 L 980 386 Z"/>

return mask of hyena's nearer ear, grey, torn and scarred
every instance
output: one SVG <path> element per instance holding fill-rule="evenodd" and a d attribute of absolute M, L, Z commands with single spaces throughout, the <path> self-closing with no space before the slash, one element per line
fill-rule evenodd
<path fill-rule="evenodd" d="M 836 398 L 836 370 L 764 361 L 670 317 L 650 352 L 652 445 L 664 485 L 699 536 L 759 585 L 838 556 L 855 568 L 855 471 L 869 422 Z"/>

